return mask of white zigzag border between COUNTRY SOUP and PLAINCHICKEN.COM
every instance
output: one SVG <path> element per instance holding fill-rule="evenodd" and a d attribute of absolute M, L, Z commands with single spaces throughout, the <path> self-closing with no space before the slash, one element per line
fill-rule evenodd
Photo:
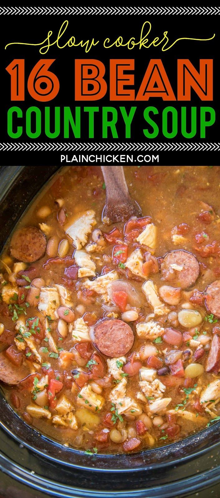
<path fill-rule="evenodd" d="M 220 142 L 3 142 L 0 152 L 41 151 L 41 152 L 167 152 L 167 151 L 220 151 Z"/>

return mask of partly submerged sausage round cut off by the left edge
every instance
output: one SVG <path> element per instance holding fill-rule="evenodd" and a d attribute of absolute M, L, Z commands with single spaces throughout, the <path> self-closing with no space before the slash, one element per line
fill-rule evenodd
<path fill-rule="evenodd" d="M 5 384 L 18 384 L 22 378 L 26 377 L 29 373 L 28 367 L 21 366 L 19 369 L 15 367 L 7 358 L 4 353 L 0 353 L 0 380 Z"/>

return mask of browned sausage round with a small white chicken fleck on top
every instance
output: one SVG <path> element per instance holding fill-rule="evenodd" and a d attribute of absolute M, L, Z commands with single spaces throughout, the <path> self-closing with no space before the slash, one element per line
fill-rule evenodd
<path fill-rule="evenodd" d="M 175 268 L 175 265 L 179 268 Z M 179 287 L 187 289 L 196 282 L 200 274 L 200 265 L 192 252 L 183 249 L 172 250 L 165 254 L 161 263 L 161 272 L 165 280 L 175 281 Z"/>

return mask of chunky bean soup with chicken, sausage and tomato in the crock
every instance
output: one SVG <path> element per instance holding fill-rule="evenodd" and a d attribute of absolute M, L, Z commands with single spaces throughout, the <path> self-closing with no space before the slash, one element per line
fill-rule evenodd
<path fill-rule="evenodd" d="M 63 168 L 1 257 L 0 380 L 25 422 L 87 454 L 170 444 L 220 417 L 220 168 Z"/>

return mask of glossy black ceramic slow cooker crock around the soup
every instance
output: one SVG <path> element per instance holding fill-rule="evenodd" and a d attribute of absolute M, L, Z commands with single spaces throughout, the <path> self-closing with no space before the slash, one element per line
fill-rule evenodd
<path fill-rule="evenodd" d="M 58 167 L 0 168 L 0 248 Z M 220 497 L 220 423 L 131 455 L 85 455 L 25 424 L 0 392 L 0 497 Z"/>

